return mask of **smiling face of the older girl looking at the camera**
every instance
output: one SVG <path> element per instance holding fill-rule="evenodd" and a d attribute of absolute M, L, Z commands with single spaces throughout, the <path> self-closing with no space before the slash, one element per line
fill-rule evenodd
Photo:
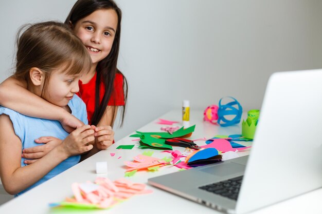
<path fill-rule="evenodd" d="M 82 18 L 73 26 L 75 34 L 90 53 L 93 65 L 96 66 L 99 61 L 109 55 L 117 30 L 117 22 L 118 17 L 115 10 L 100 9 Z"/>

